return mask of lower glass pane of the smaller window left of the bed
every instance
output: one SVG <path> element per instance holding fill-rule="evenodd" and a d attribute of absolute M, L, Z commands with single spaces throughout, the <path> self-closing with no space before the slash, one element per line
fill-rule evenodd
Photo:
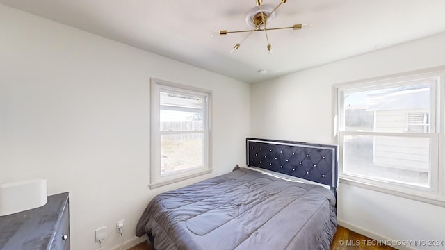
<path fill-rule="evenodd" d="M 161 176 L 202 167 L 203 133 L 161 135 Z"/>

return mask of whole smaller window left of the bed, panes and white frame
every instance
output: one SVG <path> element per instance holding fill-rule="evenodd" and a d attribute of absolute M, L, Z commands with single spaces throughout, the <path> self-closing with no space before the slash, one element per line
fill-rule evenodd
<path fill-rule="evenodd" d="M 211 172 L 209 91 L 152 79 L 150 187 Z"/>

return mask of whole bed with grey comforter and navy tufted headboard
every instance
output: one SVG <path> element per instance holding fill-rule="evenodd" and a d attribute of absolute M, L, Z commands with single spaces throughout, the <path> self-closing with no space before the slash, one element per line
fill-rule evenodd
<path fill-rule="evenodd" d="M 247 138 L 246 163 L 157 195 L 136 235 L 156 250 L 329 249 L 337 146 Z"/>

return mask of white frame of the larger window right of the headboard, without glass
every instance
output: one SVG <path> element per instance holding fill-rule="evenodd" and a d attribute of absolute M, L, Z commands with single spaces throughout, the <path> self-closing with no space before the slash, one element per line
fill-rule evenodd
<path fill-rule="evenodd" d="M 385 87 L 397 87 L 415 83 L 420 79 L 435 79 L 432 86 L 430 133 L 385 133 L 385 132 L 362 132 L 344 131 L 343 123 L 343 97 L 345 90 L 365 91 Z M 334 99 L 334 138 L 339 144 L 339 181 L 349 185 L 356 185 L 378 192 L 393 194 L 407 199 L 414 199 L 437 206 L 445 206 L 445 67 L 422 69 L 415 72 L 382 76 L 378 78 L 364 79 L 348 83 L 333 85 L 332 97 Z M 414 187 L 391 181 L 381 181 L 376 178 L 365 178 L 354 174 L 343 173 L 343 138 L 345 135 L 385 135 L 403 137 L 430 138 L 430 188 Z"/>

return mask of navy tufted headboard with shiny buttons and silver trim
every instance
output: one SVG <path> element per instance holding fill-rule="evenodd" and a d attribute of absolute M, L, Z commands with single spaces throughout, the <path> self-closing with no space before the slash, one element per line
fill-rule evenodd
<path fill-rule="evenodd" d="M 337 146 L 247 138 L 247 165 L 329 185 L 337 197 Z"/>

